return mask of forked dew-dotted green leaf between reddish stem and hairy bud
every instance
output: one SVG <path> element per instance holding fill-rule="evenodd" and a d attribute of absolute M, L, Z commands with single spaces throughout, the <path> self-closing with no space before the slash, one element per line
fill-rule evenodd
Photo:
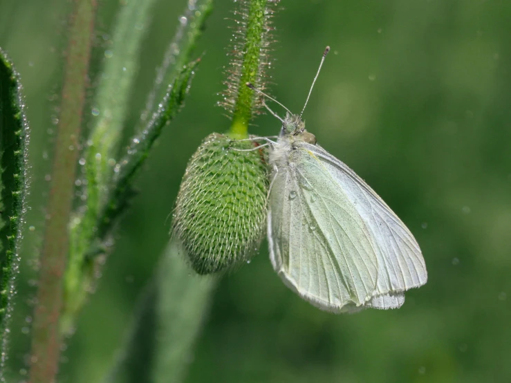
<path fill-rule="evenodd" d="M 142 36 L 142 32 L 136 30 L 137 24 L 133 23 L 138 20 L 141 25 L 147 24 L 147 19 L 144 19 L 143 15 L 151 1 L 145 0 L 146 3 L 141 9 L 138 9 L 137 1 L 130 1 L 122 8 L 115 27 L 112 57 L 109 59 L 113 61 L 106 62 L 104 68 L 106 77 L 108 79 L 112 77 L 113 80 L 100 84 L 95 104 L 100 113 L 99 120 L 91 131 L 89 147 L 84 156 L 86 208 L 82 207 L 81 211 L 84 213 L 75 214 L 71 220 L 71 250 L 65 277 L 63 333 L 69 333 L 72 329 L 87 291 L 93 287 L 95 270 L 100 267 L 97 255 L 105 254 L 108 250 L 106 236 L 111 232 L 116 222 L 115 218 L 124 211 L 129 197 L 134 193 L 131 183 L 136 170 L 148 155 L 163 125 L 174 118 L 183 104 L 196 62 L 184 69 L 183 67 L 191 60 L 190 55 L 203 32 L 213 2 L 187 1 L 183 15 L 186 21 L 180 23 L 174 39 L 169 44 L 154 89 L 148 97 L 146 110 L 142 113 L 142 116 L 149 116 L 152 119 L 147 122 L 147 118 L 142 117 L 140 122 L 143 131 L 140 137 L 133 138 L 132 141 L 134 143 L 140 140 L 140 146 L 133 144 L 124 154 L 124 159 L 114 167 L 115 161 L 112 164 L 112 159 L 118 158 L 118 143 L 121 132 L 125 129 L 124 113 L 127 108 L 125 95 L 129 93 L 132 84 L 133 73 L 136 70 L 136 55 L 140 51 Z M 183 17 L 181 20 L 184 20 Z M 123 62 L 127 62 L 127 66 L 124 66 Z M 126 67 L 127 71 L 122 71 L 123 67 Z M 155 100 L 160 102 L 156 106 Z M 162 108 L 161 105 L 165 107 Z M 162 109 L 165 109 L 165 113 Z M 132 156 L 133 151 L 138 153 Z M 140 153 L 143 155 L 139 157 Z M 118 187 L 120 189 L 117 189 Z"/>

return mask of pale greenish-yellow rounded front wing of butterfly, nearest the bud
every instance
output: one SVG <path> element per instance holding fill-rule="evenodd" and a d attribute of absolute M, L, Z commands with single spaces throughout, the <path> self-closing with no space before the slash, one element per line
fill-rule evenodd
<path fill-rule="evenodd" d="M 360 310 L 378 283 L 371 233 L 322 160 L 301 146 L 284 156 L 268 205 L 272 265 L 286 285 L 315 306 Z"/>

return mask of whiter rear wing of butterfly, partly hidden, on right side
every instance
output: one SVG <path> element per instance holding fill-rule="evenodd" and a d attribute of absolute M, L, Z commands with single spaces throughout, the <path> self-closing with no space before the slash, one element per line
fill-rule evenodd
<path fill-rule="evenodd" d="M 378 258 L 375 298 L 368 306 L 399 307 L 403 292 L 427 281 L 424 258 L 414 236 L 362 178 L 318 145 L 304 144 L 344 190 L 371 234 Z"/>

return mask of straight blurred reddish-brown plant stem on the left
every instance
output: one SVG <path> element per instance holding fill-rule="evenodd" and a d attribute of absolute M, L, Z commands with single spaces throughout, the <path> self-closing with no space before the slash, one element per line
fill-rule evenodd
<path fill-rule="evenodd" d="M 48 221 L 41 254 L 39 289 L 32 328 L 30 383 L 53 383 L 60 354 L 59 317 L 69 250 L 68 223 L 73 201 L 78 140 L 87 86 L 95 0 L 75 0 L 69 28 L 66 74 L 55 143 Z"/>

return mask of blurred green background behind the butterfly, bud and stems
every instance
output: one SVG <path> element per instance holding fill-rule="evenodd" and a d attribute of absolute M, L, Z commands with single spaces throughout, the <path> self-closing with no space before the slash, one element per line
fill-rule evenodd
<path fill-rule="evenodd" d="M 0 0 L 0 46 L 21 73 L 32 124 L 28 270 L 44 228 L 70 6 Z M 117 6 L 100 1 L 93 74 Z M 130 126 L 184 6 L 185 0 L 162 0 L 154 9 Z M 187 382 L 511 382 L 511 2 L 283 0 L 281 6 L 272 94 L 299 111 L 322 51 L 331 46 L 304 114 L 308 130 L 408 225 L 429 281 L 408 292 L 399 310 L 331 315 L 281 283 L 265 241 L 252 263 L 219 283 Z M 167 218 L 187 160 L 207 134 L 229 127 L 215 103 L 232 8 L 232 1 L 216 1 L 186 107 L 138 177 L 140 194 L 122 221 L 116 250 L 66 343 L 62 382 L 100 382 L 108 370 L 167 245 Z M 254 123 L 257 135 L 279 131 L 271 116 Z M 31 281 L 21 279 L 23 306 Z M 12 344 L 19 368 L 24 333 L 17 331 Z"/>

